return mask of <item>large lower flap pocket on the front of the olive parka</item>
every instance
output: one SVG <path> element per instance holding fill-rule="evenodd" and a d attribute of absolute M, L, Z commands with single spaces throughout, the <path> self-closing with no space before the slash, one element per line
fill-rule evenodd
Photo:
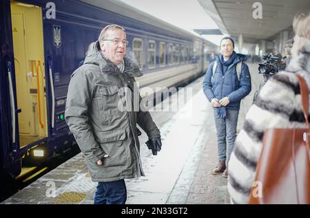
<path fill-rule="evenodd" d="M 127 134 L 125 130 L 97 131 L 95 135 L 101 149 L 109 155 L 109 157 L 103 159 L 102 166 L 123 166 L 129 164 L 127 152 L 129 140 L 126 140 Z"/>

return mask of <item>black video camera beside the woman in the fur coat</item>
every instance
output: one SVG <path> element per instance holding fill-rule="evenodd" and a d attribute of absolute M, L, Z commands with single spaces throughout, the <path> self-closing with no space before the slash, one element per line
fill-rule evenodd
<path fill-rule="evenodd" d="M 273 54 L 264 54 L 262 56 L 263 62 L 258 67 L 258 74 L 262 74 L 267 80 L 270 76 L 284 70 L 286 67 L 285 61 L 281 56 L 274 56 Z"/>

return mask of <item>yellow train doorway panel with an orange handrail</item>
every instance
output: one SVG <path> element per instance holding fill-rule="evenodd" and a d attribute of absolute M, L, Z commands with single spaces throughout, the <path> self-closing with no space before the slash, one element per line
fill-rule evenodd
<path fill-rule="evenodd" d="M 11 1 L 20 146 L 48 135 L 42 10 Z"/>

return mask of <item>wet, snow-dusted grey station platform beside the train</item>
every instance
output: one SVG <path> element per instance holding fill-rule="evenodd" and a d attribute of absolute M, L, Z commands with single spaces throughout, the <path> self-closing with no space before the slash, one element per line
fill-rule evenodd
<path fill-rule="evenodd" d="M 252 91 L 242 100 L 238 130 L 262 80 L 258 64 L 248 65 Z M 146 134 L 139 137 L 145 177 L 125 179 L 126 204 L 230 204 L 227 178 L 211 175 L 218 164 L 216 127 L 202 84 L 200 77 L 187 85 L 192 90 L 189 97 L 180 92 L 178 99 L 188 98 L 178 111 L 151 110 L 161 131 L 162 150 L 152 155 L 145 145 Z M 173 98 L 163 101 L 173 104 Z M 1 204 L 93 204 L 96 184 L 79 153 Z"/>

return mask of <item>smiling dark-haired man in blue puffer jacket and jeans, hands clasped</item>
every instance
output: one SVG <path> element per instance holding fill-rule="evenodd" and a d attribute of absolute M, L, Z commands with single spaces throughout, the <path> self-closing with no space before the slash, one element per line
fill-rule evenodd
<path fill-rule="evenodd" d="M 249 67 L 244 62 L 247 57 L 234 52 L 234 40 L 224 37 L 220 41 L 220 52 L 216 60 L 209 65 L 203 91 L 214 107 L 216 134 L 218 138 L 218 166 L 212 174 L 223 173 L 227 177 L 231 151 L 234 149 L 240 101 L 251 91 L 251 76 Z M 226 140 L 229 144 L 226 158 Z"/>

